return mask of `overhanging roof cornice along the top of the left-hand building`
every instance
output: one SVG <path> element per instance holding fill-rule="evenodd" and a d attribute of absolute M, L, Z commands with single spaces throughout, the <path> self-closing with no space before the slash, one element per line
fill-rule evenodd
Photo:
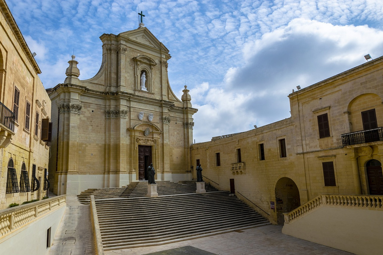
<path fill-rule="evenodd" d="M 41 70 L 38 67 L 36 60 L 32 56 L 32 53 L 30 52 L 30 49 L 29 49 L 28 45 L 26 44 L 25 39 L 22 36 L 22 33 L 21 33 L 20 29 L 18 28 L 17 23 L 14 20 L 13 15 L 10 12 L 9 7 L 6 4 L 5 0 L 0 0 L 0 10 L 3 13 L 5 20 L 7 21 L 8 25 L 12 29 L 14 35 L 16 36 L 18 43 L 21 45 L 21 48 L 24 50 L 26 57 L 28 58 L 29 62 L 32 64 L 34 71 L 37 74 L 40 74 Z"/>

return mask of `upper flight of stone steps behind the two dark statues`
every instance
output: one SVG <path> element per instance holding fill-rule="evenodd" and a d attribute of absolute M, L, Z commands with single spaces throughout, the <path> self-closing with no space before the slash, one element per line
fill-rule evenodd
<path fill-rule="evenodd" d="M 206 192 L 216 191 L 210 184 L 205 184 Z M 195 181 L 180 181 L 178 183 L 170 181 L 157 181 L 157 192 L 159 196 L 180 194 L 180 193 L 195 193 Z M 90 196 L 94 195 L 95 199 L 104 198 L 129 198 L 143 197 L 148 193 L 148 181 L 132 182 L 126 187 L 121 188 L 101 188 L 87 189 L 77 195 L 77 200 L 84 205 L 90 204 Z"/>

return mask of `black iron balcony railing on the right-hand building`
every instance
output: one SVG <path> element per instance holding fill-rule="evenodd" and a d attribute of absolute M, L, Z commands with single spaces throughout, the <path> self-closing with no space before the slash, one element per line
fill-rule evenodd
<path fill-rule="evenodd" d="M 343 146 L 373 141 L 383 141 L 382 127 L 342 134 Z"/>

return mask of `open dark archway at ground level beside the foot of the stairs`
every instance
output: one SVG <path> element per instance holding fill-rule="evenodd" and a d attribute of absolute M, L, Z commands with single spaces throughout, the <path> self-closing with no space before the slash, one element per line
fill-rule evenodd
<path fill-rule="evenodd" d="M 301 205 L 299 190 L 295 182 L 287 177 L 282 177 L 275 185 L 275 209 L 277 210 L 277 223 L 285 222 L 283 213 L 288 213 Z"/>

